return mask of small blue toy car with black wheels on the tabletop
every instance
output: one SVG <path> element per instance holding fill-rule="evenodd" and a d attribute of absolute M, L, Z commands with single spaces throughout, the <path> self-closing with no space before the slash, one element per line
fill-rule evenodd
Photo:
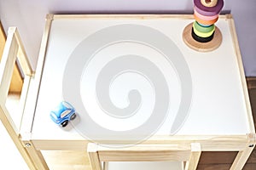
<path fill-rule="evenodd" d="M 62 101 L 55 111 L 50 111 L 49 116 L 56 124 L 66 127 L 68 121 L 76 117 L 76 113 L 72 105 L 67 103 L 67 101 Z"/>

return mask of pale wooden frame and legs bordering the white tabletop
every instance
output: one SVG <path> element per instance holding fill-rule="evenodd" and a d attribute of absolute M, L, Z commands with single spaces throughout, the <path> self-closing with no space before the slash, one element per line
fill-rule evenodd
<path fill-rule="evenodd" d="M 29 160 L 33 163 L 29 164 L 32 169 L 48 169 L 48 166 L 42 156 L 40 150 L 86 150 L 89 141 L 85 140 L 80 135 L 67 137 L 65 140 L 62 139 L 33 139 L 32 138 L 32 126 L 34 121 L 35 109 L 38 101 L 38 92 L 40 88 L 42 73 L 44 71 L 44 59 L 48 48 L 48 38 L 52 20 L 57 19 L 77 19 L 77 18 L 88 18 L 88 19 L 162 19 L 162 18 L 177 18 L 177 19 L 193 19 L 192 15 L 173 15 L 173 14 L 82 14 L 82 15 L 53 15 L 48 14 L 46 18 L 46 26 L 44 29 L 44 36 L 40 48 L 38 66 L 35 76 L 30 78 L 29 89 L 26 95 L 26 105 L 23 112 L 23 119 L 20 127 L 19 137 L 23 148 L 26 149 L 26 154 Z M 244 101 L 247 107 L 247 122 L 250 133 L 238 134 L 238 135 L 173 135 L 173 136 L 153 136 L 143 144 L 177 144 L 188 146 L 192 143 L 201 144 L 201 151 L 238 151 L 235 161 L 230 169 L 241 169 L 250 156 L 254 145 L 255 145 L 255 131 L 253 124 L 252 111 L 247 94 L 247 84 L 241 62 L 241 53 L 236 37 L 236 29 L 234 20 L 230 14 L 221 15 L 220 18 L 229 20 L 230 33 L 233 38 L 234 47 L 236 49 L 236 59 L 239 65 L 240 79 L 244 94 Z M 5 77 L 3 77 L 5 78 Z M 4 79 L 2 80 L 4 82 Z M 2 88 L 1 88 L 2 89 Z M 6 90 L 6 89 L 4 89 Z M 2 94 L 2 91 L 1 91 Z M 2 105 L 1 105 L 2 107 Z M 2 111 L 1 111 L 2 112 Z M 4 112 L 4 111 L 3 111 Z M 3 114 L 3 113 L 2 113 Z M 7 113 L 5 113 L 7 114 Z M 10 127 L 8 127 L 10 128 Z M 16 135 L 11 133 L 11 135 Z M 113 141 L 112 141 L 113 142 Z M 110 143 L 112 143 L 110 142 Z"/>

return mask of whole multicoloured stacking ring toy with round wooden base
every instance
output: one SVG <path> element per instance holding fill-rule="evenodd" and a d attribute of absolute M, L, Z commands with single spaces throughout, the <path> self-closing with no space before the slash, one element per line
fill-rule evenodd
<path fill-rule="evenodd" d="M 222 42 L 222 34 L 214 24 L 224 7 L 224 0 L 193 0 L 194 22 L 183 30 L 183 41 L 200 52 L 212 51 Z"/>

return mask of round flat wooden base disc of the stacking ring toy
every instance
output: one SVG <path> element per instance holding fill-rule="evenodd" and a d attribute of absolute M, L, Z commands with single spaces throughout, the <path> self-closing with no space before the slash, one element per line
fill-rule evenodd
<path fill-rule="evenodd" d="M 191 36 L 193 23 L 190 23 L 183 30 L 183 41 L 189 46 L 189 48 L 194 49 L 199 52 L 210 52 L 218 48 L 222 42 L 222 34 L 219 31 L 218 27 L 215 26 L 214 37 L 210 42 L 197 42 Z"/>

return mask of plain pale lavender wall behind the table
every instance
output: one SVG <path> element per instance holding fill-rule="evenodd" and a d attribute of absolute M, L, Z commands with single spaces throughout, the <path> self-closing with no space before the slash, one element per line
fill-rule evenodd
<path fill-rule="evenodd" d="M 226 0 L 224 10 L 231 10 L 247 76 L 256 76 L 256 1 Z M 35 68 L 45 14 L 95 13 L 190 13 L 192 0 L 1 0 L 0 20 L 5 31 L 17 26 L 26 52 Z"/>

